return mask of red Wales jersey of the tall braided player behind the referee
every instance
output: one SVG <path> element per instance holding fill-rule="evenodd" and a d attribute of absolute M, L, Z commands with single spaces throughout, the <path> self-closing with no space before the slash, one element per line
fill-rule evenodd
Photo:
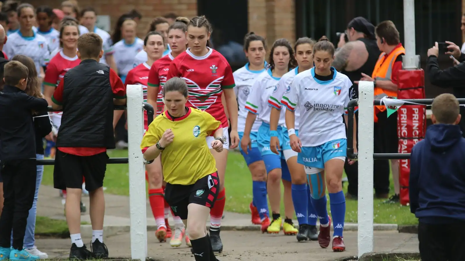
<path fill-rule="evenodd" d="M 187 106 L 210 113 L 223 128 L 228 126 L 221 95 L 223 89 L 233 88 L 235 84 L 231 66 L 223 55 L 209 48 L 206 55 L 198 57 L 187 49 L 171 63 L 166 78 L 173 77 L 186 80 Z"/>

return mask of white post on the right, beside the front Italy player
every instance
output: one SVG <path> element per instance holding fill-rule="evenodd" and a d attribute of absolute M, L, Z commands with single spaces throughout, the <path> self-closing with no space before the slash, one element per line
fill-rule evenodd
<path fill-rule="evenodd" d="M 373 82 L 359 82 L 359 257 L 373 252 Z"/>

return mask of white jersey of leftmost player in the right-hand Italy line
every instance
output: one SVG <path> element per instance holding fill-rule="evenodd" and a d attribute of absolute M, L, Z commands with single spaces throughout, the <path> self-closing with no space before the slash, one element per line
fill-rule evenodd
<path fill-rule="evenodd" d="M 266 63 L 265 63 L 266 65 Z M 239 68 L 233 72 L 234 82 L 236 86 L 234 87 L 234 92 L 237 97 L 237 104 L 239 105 L 239 113 L 237 120 L 237 130 L 244 131 L 246 128 L 246 118 L 249 111 L 246 110 L 246 102 L 249 94 L 252 91 L 252 85 L 255 82 L 255 79 L 259 77 L 260 73 L 265 72 L 265 69 L 260 71 L 252 71 L 249 69 L 249 63 L 244 67 Z M 257 95 L 260 95 L 257 93 Z M 252 132 L 258 131 L 261 125 L 261 120 L 258 118 L 252 125 Z"/>

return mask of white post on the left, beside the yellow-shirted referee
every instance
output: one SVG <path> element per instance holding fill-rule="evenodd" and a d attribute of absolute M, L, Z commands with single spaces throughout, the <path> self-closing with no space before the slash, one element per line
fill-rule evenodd
<path fill-rule="evenodd" d="M 127 85 L 127 134 L 129 158 L 129 213 L 131 217 L 131 259 L 147 258 L 147 214 L 145 169 L 140 142 L 144 135 L 141 85 Z"/>

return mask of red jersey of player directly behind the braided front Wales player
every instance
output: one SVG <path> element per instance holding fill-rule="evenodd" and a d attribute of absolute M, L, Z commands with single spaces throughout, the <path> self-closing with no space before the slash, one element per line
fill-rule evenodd
<path fill-rule="evenodd" d="M 163 85 L 165 85 L 166 76 L 168 75 L 170 64 L 173 60 L 174 57 L 171 55 L 171 52 L 169 52 L 168 55 L 156 60 L 148 73 L 148 88 L 158 88 L 157 115 L 163 112 Z"/>

